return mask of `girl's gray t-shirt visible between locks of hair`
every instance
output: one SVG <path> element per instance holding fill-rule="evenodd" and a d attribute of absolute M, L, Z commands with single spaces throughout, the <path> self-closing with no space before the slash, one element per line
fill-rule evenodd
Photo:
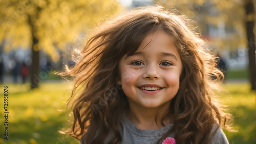
<path fill-rule="evenodd" d="M 160 139 L 168 130 L 173 127 L 173 124 L 169 124 L 165 127 L 156 130 L 141 130 L 136 128 L 136 126 L 126 117 L 126 114 L 122 114 L 122 126 L 120 127 L 120 134 L 122 137 L 122 144 L 138 144 L 138 143 L 157 143 L 158 139 Z M 212 144 L 228 144 L 228 140 L 224 132 L 221 128 L 216 124 L 213 130 L 216 131 L 212 141 Z M 108 136 L 104 143 L 108 143 L 112 139 L 112 134 Z M 174 137 L 175 134 L 172 133 L 169 137 Z M 83 138 L 82 138 L 83 139 Z M 82 142 L 81 139 L 81 143 Z"/>

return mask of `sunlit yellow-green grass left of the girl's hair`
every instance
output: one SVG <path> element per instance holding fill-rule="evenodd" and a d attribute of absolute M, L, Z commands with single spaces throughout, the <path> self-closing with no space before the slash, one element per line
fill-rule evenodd
<path fill-rule="evenodd" d="M 68 84 L 41 84 L 29 91 L 27 85 L 8 85 L 8 141 L 4 139 L 4 119 L 0 119 L 0 143 L 79 143 L 58 133 L 67 121 L 65 102 L 71 94 Z M 1 85 L 3 100 L 4 85 Z M 1 100 L 1 114 L 4 112 Z"/>

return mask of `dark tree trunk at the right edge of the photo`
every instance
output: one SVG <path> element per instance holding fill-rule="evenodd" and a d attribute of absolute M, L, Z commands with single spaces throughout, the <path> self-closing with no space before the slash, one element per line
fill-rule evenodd
<path fill-rule="evenodd" d="M 253 33 L 253 28 L 255 27 L 255 14 L 254 14 L 254 3 L 253 0 L 245 1 L 244 8 L 246 10 L 247 20 L 245 21 L 246 33 L 248 40 L 248 55 L 249 55 L 249 73 L 251 89 L 256 90 L 256 60 L 255 60 L 255 35 Z M 253 16 L 251 19 L 250 17 Z"/>

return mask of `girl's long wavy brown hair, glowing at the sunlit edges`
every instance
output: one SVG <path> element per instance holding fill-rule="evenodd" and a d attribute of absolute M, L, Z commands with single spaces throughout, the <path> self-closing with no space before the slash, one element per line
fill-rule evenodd
<path fill-rule="evenodd" d="M 79 53 L 81 59 L 62 73 L 75 77 L 68 101 L 74 122 L 64 133 L 77 139 L 86 134 L 86 143 L 103 143 L 112 132 L 109 143 L 121 143 L 118 125 L 129 105 L 116 84 L 120 77 L 118 63 L 125 54 L 136 52 L 148 34 L 158 30 L 174 39 L 182 61 L 179 91 L 171 100 L 170 113 L 164 117 L 172 115 L 174 127 L 158 143 L 173 132 L 177 143 L 207 143 L 216 122 L 229 129 L 229 115 L 214 101 L 218 81 L 224 75 L 191 22 L 176 10 L 169 12 L 156 5 L 130 10 L 96 28 Z"/>

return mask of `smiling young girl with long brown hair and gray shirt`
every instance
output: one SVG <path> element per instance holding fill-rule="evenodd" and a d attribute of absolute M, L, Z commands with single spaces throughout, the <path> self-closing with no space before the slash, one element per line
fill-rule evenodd
<path fill-rule="evenodd" d="M 189 21 L 151 6 L 98 28 L 67 68 L 76 81 L 66 132 L 81 143 L 228 143 L 228 115 L 213 100 L 223 74 Z"/>

